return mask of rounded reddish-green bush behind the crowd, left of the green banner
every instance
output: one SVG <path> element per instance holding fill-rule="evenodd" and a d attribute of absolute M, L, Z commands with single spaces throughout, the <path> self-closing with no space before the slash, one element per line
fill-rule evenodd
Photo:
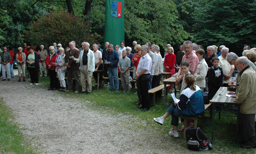
<path fill-rule="evenodd" d="M 57 42 L 65 47 L 74 40 L 78 47 L 84 41 L 90 44 L 96 42 L 96 36 L 90 35 L 87 29 L 84 19 L 67 12 L 54 12 L 38 18 L 26 35 L 29 42 L 35 45 L 44 44 L 49 47 Z"/>

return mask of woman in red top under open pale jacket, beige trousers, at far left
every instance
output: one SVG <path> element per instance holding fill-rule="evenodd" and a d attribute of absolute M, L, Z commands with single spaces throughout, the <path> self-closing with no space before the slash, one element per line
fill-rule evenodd
<path fill-rule="evenodd" d="M 19 72 L 19 82 L 21 81 L 21 69 L 22 69 L 22 76 L 23 81 L 26 81 L 26 73 L 25 73 L 25 67 L 26 67 L 26 54 L 22 52 L 22 48 L 18 48 L 18 53 L 16 54 L 16 60 L 18 64 L 18 72 Z"/>

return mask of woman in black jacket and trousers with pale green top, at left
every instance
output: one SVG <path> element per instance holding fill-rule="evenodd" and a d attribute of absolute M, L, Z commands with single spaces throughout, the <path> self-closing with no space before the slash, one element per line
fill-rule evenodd
<path fill-rule="evenodd" d="M 38 85 L 38 71 L 39 71 L 39 55 L 34 51 L 36 48 L 34 46 L 29 47 L 30 53 L 26 57 L 27 70 L 29 71 L 31 77 L 30 85 Z"/>

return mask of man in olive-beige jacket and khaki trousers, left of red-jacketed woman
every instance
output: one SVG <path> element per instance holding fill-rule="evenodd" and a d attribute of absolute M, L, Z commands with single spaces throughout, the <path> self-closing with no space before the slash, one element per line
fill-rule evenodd
<path fill-rule="evenodd" d="M 41 57 L 39 61 L 39 77 L 43 77 L 43 67 L 44 67 L 44 77 L 47 77 L 47 71 L 46 71 L 46 57 L 47 57 L 47 51 L 44 49 L 44 45 L 40 45 L 40 50 L 38 51 L 39 56 Z"/>

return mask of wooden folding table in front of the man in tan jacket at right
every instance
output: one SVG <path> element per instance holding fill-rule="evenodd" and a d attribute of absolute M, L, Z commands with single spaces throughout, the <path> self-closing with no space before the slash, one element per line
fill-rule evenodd
<path fill-rule="evenodd" d="M 214 116 L 215 113 L 220 113 L 223 110 L 230 111 L 230 113 L 233 113 L 236 115 L 236 142 L 238 138 L 238 119 L 239 119 L 239 111 L 240 111 L 240 104 L 236 104 L 234 100 L 235 97 L 228 97 L 226 94 L 230 92 L 227 90 L 227 87 L 220 87 L 220 89 L 217 91 L 217 93 L 214 95 L 214 97 L 210 100 L 210 103 L 212 103 L 212 130 L 211 130 L 211 140 L 213 141 L 214 136 Z M 220 104 L 229 104 L 228 107 L 224 108 Z M 233 110 L 233 105 L 237 106 L 237 111 Z M 215 111 L 215 106 L 218 106 L 220 110 Z"/>

